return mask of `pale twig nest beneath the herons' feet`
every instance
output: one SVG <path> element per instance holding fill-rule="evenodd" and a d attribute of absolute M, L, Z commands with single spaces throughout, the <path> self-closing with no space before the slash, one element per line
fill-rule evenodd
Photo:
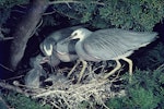
<path fill-rule="evenodd" d="M 63 71 L 60 70 L 56 72 L 55 76 L 49 76 L 51 77 L 52 85 L 31 88 L 31 92 L 27 88 L 27 92 L 33 98 L 42 98 L 44 102 L 51 104 L 58 109 L 78 109 L 83 102 L 87 102 L 90 108 L 98 105 L 108 109 L 105 105 L 107 99 L 125 96 L 124 89 L 119 92 L 112 90 L 113 83 L 119 80 L 119 73 L 112 80 L 102 80 L 104 70 L 96 74 L 94 71 L 97 68 L 91 70 L 90 66 L 87 66 L 80 84 L 77 84 L 74 81 L 79 75 L 81 66 L 73 72 L 70 78 L 67 78 Z M 69 70 L 65 72 L 69 72 Z"/>

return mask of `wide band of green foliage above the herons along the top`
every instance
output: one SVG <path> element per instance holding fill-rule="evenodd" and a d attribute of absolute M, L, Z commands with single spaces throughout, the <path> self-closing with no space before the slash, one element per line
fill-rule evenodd
<path fill-rule="evenodd" d="M 82 0 L 55 4 L 63 15 L 94 27 L 121 27 L 136 31 L 152 31 L 164 17 L 163 0 Z"/>

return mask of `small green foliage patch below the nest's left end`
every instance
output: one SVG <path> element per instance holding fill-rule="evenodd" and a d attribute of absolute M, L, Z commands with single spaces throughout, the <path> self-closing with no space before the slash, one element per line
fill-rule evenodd
<path fill-rule="evenodd" d="M 42 106 L 35 100 L 32 100 L 21 94 L 10 93 L 5 99 L 11 107 L 14 107 L 14 109 L 50 109 L 50 106 Z"/>

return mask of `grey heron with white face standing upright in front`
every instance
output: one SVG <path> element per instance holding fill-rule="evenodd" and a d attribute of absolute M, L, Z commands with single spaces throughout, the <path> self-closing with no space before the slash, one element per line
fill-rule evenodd
<path fill-rule="evenodd" d="M 121 64 L 119 60 L 129 63 L 129 73 L 132 75 L 132 61 L 128 59 L 134 50 L 144 47 L 156 38 L 154 32 L 131 32 L 120 28 L 106 28 L 91 32 L 86 28 L 74 31 L 65 41 L 79 39 L 75 44 L 75 51 L 82 61 L 83 68 L 80 72 L 78 83 L 81 81 L 86 68 L 86 61 L 107 61 L 115 60 L 117 65 L 104 78 L 108 78 Z"/>

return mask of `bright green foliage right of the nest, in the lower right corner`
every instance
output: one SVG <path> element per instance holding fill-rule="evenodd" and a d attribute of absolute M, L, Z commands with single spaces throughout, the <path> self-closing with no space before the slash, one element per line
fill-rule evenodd
<path fill-rule="evenodd" d="M 110 109 L 162 109 L 164 99 L 164 68 L 136 70 L 130 84 L 125 84 L 127 96 L 107 101 Z"/>

